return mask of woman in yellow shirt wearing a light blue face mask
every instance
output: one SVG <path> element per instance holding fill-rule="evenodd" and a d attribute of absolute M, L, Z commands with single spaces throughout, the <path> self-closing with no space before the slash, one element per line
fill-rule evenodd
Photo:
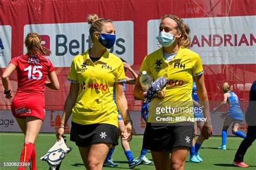
<path fill-rule="evenodd" d="M 200 56 L 188 49 L 189 31 L 190 28 L 182 19 L 165 15 L 161 18 L 157 36 L 163 47 L 147 55 L 140 67 L 140 72 L 145 70 L 153 76 L 153 80 L 160 76 L 169 79 L 164 97 L 154 98 L 150 103 L 143 139 L 143 148 L 151 150 L 156 169 L 185 167 L 186 155 L 193 137 L 193 79 L 198 87 L 199 101 L 204 102 L 201 105 L 204 105 L 204 117 L 207 118 L 203 137 L 208 139 L 212 132 L 203 65 Z M 139 77 L 140 75 L 135 83 L 134 96 L 144 99 L 147 92 L 140 86 Z"/>

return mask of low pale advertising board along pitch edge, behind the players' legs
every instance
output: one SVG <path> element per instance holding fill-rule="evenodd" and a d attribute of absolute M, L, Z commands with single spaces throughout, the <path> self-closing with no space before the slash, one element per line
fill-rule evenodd
<path fill-rule="evenodd" d="M 59 127 L 60 118 L 62 116 L 61 110 L 46 110 L 45 119 L 43 126 L 40 132 L 44 133 L 55 133 L 56 129 Z M 220 120 L 219 115 L 221 112 L 217 114 L 211 115 L 212 126 L 213 126 L 213 135 L 221 136 L 221 131 L 223 128 L 224 120 Z M 140 116 L 139 111 L 130 111 L 131 119 L 133 122 L 133 128 L 137 134 L 144 134 L 146 123 L 143 121 Z M 70 133 L 71 128 L 71 119 L 72 115 L 69 118 L 68 123 L 66 124 L 65 133 Z M 242 122 L 239 130 L 246 133 L 247 126 L 245 122 Z M 234 136 L 231 131 L 232 128 L 228 129 L 228 136 Z M 19 128 L 16 119 L 12 116 L 11 110 L 0 110 L 0 132 L 22 132 Z M 200 131 L 198 130 L 198 134 Z"/>

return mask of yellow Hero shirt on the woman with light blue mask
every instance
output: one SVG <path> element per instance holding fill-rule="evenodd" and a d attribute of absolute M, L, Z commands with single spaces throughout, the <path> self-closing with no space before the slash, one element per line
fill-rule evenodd
<path fill-rule="evenodd" d="M 160 76 L 169 79 L 163 99 L 150 103 L 150 123 L 193 122 L 193 77 L 204 73 L 200 56 L 185 47 L 179 47 L 169 62 L 163 57 L 163 48 L 147 55 L 140 72 L 146 70 L 153 80 Z"/>

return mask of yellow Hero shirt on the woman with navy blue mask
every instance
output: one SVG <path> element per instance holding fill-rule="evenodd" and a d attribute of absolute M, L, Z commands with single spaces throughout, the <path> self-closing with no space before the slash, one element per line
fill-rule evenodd
<path fill-rule="evenodd" d="M 72 109 L 73 122 L 82 125 L 105 123 L 118 127 L 113 86 L 114 82 L 125 81 L 122 60 L 106 50 L 93 63 L 88 49 L 73 59 L 68 81 L 79 83 L 78 97 Z"/>

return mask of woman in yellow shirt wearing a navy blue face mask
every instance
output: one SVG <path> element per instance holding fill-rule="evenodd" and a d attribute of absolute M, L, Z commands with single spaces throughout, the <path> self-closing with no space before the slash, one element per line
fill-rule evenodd
<path fill-rule="evenodd" d="M 87 169 L 102 169 L 111 146 L 118 145 L 118 113 L 113 101 L 113 87 L 116 87 L 116 101 L 124 118 L 124 139 L 132 137 L 127 101 L 123 82 L 123 62 L 106 48 L 116 40 L 112 20 L 89 15 L 92 47 L 76 56 L 71 64 L 68 81 L 69 95 L 57 130 L 57 137 L 63 136 L 65 124 L 71 113 L 70 140 L 75 141 Z M 121 107 L 122 106 L 122 107 Z"/>

